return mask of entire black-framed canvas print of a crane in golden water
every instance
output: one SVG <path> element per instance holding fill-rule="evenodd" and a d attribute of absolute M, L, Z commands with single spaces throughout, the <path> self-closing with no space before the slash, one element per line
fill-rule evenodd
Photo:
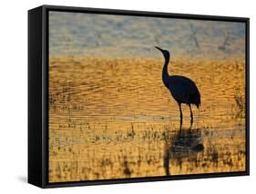
<path fill-rule="evenodd" d="M 28 12 L 28 182 L 249 175 L 249 18 Z"/>

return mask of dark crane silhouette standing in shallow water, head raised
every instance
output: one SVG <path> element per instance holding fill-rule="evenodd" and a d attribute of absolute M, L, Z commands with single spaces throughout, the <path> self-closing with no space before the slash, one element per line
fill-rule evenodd
<path fill-rule="evenodd" d="M 200 91 L 196 86 L 196 83 L 191 81 L 189 78 L 180 75 L 169 75 L 168 64 L 169 64 L 169 51 L 163 50 L 158 46 L 155 48 L 163 54 L 165 58 L 165 63 L 162 71 L 162 81 L 164 85 L 169 89 L 172 97 L 179 105 L 179 117 L 180 117 L 180 128 L 182 127 L 182 110 L 181 103 L 189 105 L 190 110 L 190 129 L 193 124 L 193 112 L 191 109 L 191 104 L 195 104 L 198 108 L 200 107 Z"/>

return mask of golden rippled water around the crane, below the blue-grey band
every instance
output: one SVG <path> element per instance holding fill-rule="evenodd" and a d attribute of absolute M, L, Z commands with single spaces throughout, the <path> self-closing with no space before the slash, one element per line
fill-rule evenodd
<path fill-rule="evenodd" d="M 159 53 L 160 54 L 160 53 Z M 50 57 L 49 182 L 245 170 L 245 62 L 175 58 L 201 106 L 179 106 L 163 59 Z"/>

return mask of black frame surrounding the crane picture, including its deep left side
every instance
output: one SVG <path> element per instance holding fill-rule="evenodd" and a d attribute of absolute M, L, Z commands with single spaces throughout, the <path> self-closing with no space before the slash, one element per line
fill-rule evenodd
<path fill-rule="evenodd" d="M 48 12 L 134 15 L 161 18 L 182 18 L 246 24 L 246 170 L 238 172 L 174 175 L 131 179 L 105 179 L 71 182 L 48 182 Z M 143 11 L 82 8 L 42 5 L 28 11 L 28 182 L 40 188 L 131 183 L 171 179 L 201 179 L 250 174 L 250 19 L 213 15 L 183 15 Z"/>

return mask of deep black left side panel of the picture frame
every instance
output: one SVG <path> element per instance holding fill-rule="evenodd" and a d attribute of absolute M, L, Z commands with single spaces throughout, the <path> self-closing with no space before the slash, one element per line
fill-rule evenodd
<path fill-rule="evenodd" d="M 28 11 L 28 168 L 27 181 L 43 187 L 42 170 L 42 6 Z"/>

